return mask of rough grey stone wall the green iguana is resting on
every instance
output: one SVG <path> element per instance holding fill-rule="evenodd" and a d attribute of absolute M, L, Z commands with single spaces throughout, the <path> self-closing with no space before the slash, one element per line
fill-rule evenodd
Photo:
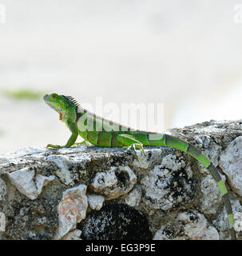
<path fill-rule="evenodd" d="M 169 133 L 203 150 L 220 171 L 242 239 L 242 121 Z M 208 171 L 179 150 L 145 153 L 141 161 L 132 151 L 95 146 L 0 154 L 0 239 L 229 239 Z M 142 237 L 134 232 L 140 228 Z"/>

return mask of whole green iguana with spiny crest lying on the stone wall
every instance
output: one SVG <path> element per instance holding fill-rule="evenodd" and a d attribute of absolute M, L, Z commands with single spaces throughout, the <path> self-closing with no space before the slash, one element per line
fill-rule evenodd
<path fill-rule="evenodd" d="M 121 126 L 117 122 L 112 122 L 105 118 L 98 117 L 82 108 L 75 99 L 70 96 L 58 94 L 46 94 L 44 101 L 59 114 L 59 119 L 65 122 L 65 125 L 71 131 L 71 136 L 65 146 L 48 144 L 47 147 L 63 148 L 70 147 L 77 140 L 78 134 L 84 138 L 84 142 L 95 146 L 115 147 L 121 146 L 127 149 L 133 149 L 137 156 L 137 150 L 141 149 L 145 154 L 143 146 L 169 146 L 181 150 L 196 158 L 212 174 L 217 186 L 222 194 L 224 205 L 228 214 L 228 222 L 232 234 L 232 239 L 236 239 L 236 232 L 233 229 L 234 219 L 232 206 L 228 197 L 228 191 L 224 185 L 219 172 L 212 162 L 197 150 L 190 143 L 180 138 L 168 134 L 157 134 L 141 130 L 133 130 L 127 126 Z"/>

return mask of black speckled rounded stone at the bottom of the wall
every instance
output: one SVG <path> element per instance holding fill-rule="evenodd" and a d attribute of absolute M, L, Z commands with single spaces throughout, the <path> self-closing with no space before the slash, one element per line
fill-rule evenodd
<path fill-rule="evenodd" d="M 152 239 L 145 214 L 123 204 L 109 203 L 101 210 L 91 211 L 77 229 L 83 240 Z"/>

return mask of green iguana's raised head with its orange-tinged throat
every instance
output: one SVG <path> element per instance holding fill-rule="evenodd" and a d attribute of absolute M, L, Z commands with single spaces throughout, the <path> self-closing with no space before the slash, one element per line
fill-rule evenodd
<path fill-rule="evenodd" d="M 65 118 L 68 118 L 72 122 L 76 121 L 78 104 L 77 102 L 75 103 L 75 100 L 70 96 L 46 94 L 44 101 L 58 112 L 61 121 L 65 121 Z"/>

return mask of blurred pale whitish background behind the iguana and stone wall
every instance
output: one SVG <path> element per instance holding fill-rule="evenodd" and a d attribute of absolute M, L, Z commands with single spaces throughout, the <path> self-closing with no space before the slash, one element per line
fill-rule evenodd
<path fill-rule="evenodd" d="M 234 19 L 242 0 L 0 4 L 0 153 L 65 144 L 69 130 L 46 93 L 93 106 L 97 96 L 104 105 L 163 103 L 160 132 L 242 118 L 242 23 Z"/>

